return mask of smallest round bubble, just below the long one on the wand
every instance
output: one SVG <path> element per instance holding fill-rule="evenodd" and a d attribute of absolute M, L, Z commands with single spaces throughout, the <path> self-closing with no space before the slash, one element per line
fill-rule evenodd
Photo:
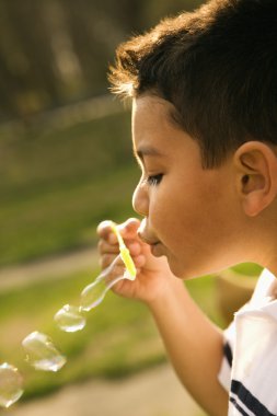
<path fill-rule="evenodd" d="M 79 312 L 79 308 L 65 304 L 54 316 L 58 327 L 65 332 L 81 331 L 85 326 L 85 317 Z"/>

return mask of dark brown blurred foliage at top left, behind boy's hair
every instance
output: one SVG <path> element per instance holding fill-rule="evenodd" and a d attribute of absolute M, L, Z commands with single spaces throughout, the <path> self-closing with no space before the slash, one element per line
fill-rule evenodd
<path fill-rule="evenodd" d="M 116 46 L 201 0 L 0 0 L 0 119 L 103 94 Z"/>

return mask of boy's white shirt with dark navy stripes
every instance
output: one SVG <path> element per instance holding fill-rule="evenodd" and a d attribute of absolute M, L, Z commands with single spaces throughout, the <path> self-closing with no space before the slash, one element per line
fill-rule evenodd
<path fill-rule="evenodd" d="M 228 416 L 277 415 L 276 282 L 265 269 L 251 301 L 224 332 L 219 381 L 230 392 Z"/>

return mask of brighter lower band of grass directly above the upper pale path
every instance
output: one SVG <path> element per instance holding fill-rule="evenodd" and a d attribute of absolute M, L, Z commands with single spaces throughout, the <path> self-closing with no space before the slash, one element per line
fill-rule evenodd
<path fill-rule="evenodd" d="M 101 220 L 120 221 L 132 215 L 130 200 L 136 178 L 136 170 L 128 166 L 102 181 L 83 182 L 1 206 L 0 263 L 93 244 Z"/>

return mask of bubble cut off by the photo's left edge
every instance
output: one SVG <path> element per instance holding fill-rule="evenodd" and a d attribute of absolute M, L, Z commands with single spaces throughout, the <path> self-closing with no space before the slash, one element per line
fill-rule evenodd
<path fill-rule="evenodd" d="M 10 407 L 23 394 L 23 378 L 19 370 L 3 362 L 0 365 L 0 406 Z"/>

